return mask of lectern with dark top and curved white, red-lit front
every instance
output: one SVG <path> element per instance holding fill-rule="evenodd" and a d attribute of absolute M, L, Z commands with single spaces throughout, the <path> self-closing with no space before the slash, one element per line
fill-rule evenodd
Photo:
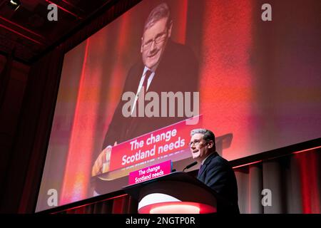
<path fill-rule="evenodd" d="M 140 214 L 215 213 L 215 192 L 186 172 L 172 172 L 153 180 L 123 187 L 138 200 Z"/>

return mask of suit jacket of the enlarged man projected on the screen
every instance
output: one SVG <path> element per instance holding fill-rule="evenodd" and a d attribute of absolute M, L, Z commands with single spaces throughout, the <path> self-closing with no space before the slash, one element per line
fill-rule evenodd
<path fill-rule="evenodd" d="M 123 93 L 131 91 L 136 94 L 141 76 L 143 74 L 143 62 L 136 63 L 128 72 Z M 198 61 L 193 52 L 187 47 L 168 40 L 161 61 L 156 69 L 155 76 L 147 92 L 155 91 L 159 95 L 161 92 L 173 91 L 194 92 L 198 90 Z M 122 93 L 122 94 L 123 94 Z M 193 94 L 191 94 L 193 98 Z M 118 103 L 116 111 L 108 127 L 103 148 L 131 140 L 140 135 L 144 135 L 158 128 L 185 120 L 186 117 L 123 117 L 122 108 L 127 101 Z M 146 102 L 148 103 L 148 102 Z M 145 105 L 146 105 L 145 103 Z M 161 99 L 160 99 L 161 103 Z M 176 105 L 177 106 L 177 105 Z M 161 113 L 161 107 L 159 108 Z M 177 116 L 177 114 L 175 114 Z"/>

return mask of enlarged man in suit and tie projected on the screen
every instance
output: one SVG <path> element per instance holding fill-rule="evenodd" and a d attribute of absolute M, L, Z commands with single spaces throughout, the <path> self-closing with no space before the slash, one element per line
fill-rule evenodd
<path fill-rule="evenodd" d="M 131 113 L 136 111 L 137 94 L 141 90 L 157 94 L 171 91 L 190 92 L 198 90 L 198 61 L 193 52 L 182 44 L 171 41 L 173 20 L 168 5 L 156 6 L 148 16 L 141 38 L 141 61 L 128 72 L 123 93 L 136 94 Z M 185 120 L 187 117 L 125 117 L 122 113 L 126 101 L 118 103 L 113 119 L 103 142 L 103 151 L 93 165 L 92 176 L 106 172 L 103 168 L 111 155 L 112 145 L 131 140 L 153 130 Z M 162 107 L 159 107 L 161 110 Z M 163 107 L 164 108 L 164 107 Z M 185 115 L 185 114 L 184 114 Z"/>

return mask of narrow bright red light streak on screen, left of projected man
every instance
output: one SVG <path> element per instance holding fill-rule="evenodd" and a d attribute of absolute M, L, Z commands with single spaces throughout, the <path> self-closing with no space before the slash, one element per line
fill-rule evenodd
<path fill-rule="evenodd" d="M 85 81 L 88 80 L 88 75 L 86 75 L 86 64 L 89 41 L 90 39 L 88 38 L 83 58 L 81 81 L 78 86 L 76 110 L 71 130 L 71 140 L 65 175 L 63 177 L 60 204 L 75 202 L 87 197 L 87 187 L 91 174 L 91 155 L 93 150 L 93 135 L 88 128 L 92 128 L 95 124 L 95 118 L 93 118 L 93 115 L 90 115 L 90 113 L 95 112 L 95 107 L 90 103 L 94 94 L 88 94 L 88 90 L 86 90 L 86 87 L 84 86 Z M 93 78 L 91 78 L 91 80 L 93 80 Z M 93 90 L 91 91 L 93 92 Z M 88 111 L 86 112 L 85 110 Z M 80 144 L 79 141 L 83 143 Z"/>

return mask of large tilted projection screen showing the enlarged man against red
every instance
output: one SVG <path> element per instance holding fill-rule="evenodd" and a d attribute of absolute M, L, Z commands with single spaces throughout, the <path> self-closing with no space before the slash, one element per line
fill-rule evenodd
<path fill-rule="evenodd" d="M 318 0 L 271 0 L 271 14 L 262 1 L 163 2 L 141 1 L 66 53 L 37 212 L 166 160 L 183 170 L 194 128 L 212 130 L 227 160 L 320 138 Z"/>

